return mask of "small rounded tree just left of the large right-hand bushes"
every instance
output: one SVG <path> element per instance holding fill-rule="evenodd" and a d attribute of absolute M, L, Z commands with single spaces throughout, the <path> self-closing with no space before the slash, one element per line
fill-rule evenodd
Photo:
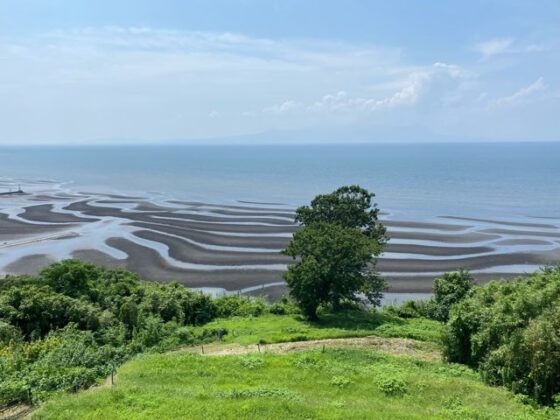
<path fill-rule="evenodd" d="M 463 300 L 473 286 L 473 276 L 463 269 L 437 278 L 434 281 L 433 317 L 447 322 L 451 306 Z"/>

